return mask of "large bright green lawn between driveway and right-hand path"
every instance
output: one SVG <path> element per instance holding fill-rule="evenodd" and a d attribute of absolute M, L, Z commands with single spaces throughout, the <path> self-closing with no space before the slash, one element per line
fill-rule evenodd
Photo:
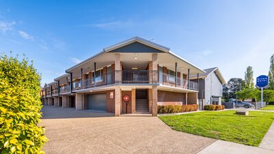
<path fill-rule="evenodd" d="M 197 112 L 159 118 L 177 131 L 258 146 L 274 120 L 274 113 L 249 112 L 249 116 L 241 116 L 235 111 Z"/>

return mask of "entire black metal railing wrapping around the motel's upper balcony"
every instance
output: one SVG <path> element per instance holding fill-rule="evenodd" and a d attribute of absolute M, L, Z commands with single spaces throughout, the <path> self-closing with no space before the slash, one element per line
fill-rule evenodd
<path fill-rule="evenodd" d="M 198 90 L 196 82 L 177 78 L 173 75 L 160 73 L 158 70 L 115 70 L 115 72 L 101 75 L 92 79 L 73 82 L 73 90 L 95 88 L 110 84 L 162 84 L 176 86 L 190 90 Z M 83 84 L 83 85 L 81 85 Z M 70 92 L 70 86 L 60 87 L 60 94 Z M 49 93 L 50 94 L 50 93 Z M 56 90 L 57 94 L 57 90 Z"/>

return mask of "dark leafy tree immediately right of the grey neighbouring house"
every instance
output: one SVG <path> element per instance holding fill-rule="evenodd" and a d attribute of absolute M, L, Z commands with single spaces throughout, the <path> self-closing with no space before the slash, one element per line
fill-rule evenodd
<path fill-rule="evenodd" d="M 236 98 L 236 92 L 242 89 L 243 81 L 241 78 L 232 78 L 223 86 L 223 99 Z"/>

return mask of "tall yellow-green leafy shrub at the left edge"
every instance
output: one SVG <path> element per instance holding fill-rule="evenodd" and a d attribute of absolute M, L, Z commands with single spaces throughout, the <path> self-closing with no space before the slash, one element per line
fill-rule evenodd
<path fill-rule="evenodd" d="M 44 153 L 40 75 L 24 57 L 0 57 L 0 153 Z"/>

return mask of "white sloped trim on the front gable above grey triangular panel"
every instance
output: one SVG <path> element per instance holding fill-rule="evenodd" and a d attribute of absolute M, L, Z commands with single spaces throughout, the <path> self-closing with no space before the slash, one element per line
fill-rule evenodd
<path fill-rule="evenodd" d="M 112 45 L 110 47 L 106 47 L 103 50 L 106 51 L 106 52 L 109 52 L 109 51 L 112 51 L 114 49 L 118 49 L 120 47 L 123 47 L 123 46 L 125 46 L 127 44 L 130 44 L 132 42 L 140 42 L 142 44 L 145 44 L 145 45 L 147 45 L 149 47 L 153 47 L 153 48 L 158 49 L 160 51 L 169 52 L 169 48 L 168 47 L 164 47 L 164 46 L 162 46 L 160 44 L 156 44 L 156 43 L 151 42 L 149 40 L 145 40 L 143 38 L 139 38 L 138 36 L 135 36 L 134 38 L 130 38 L 130 39 L 125 40 L 123 42 L 119 42 L 119 43 L 114 44 L 114 45 Z"/>

